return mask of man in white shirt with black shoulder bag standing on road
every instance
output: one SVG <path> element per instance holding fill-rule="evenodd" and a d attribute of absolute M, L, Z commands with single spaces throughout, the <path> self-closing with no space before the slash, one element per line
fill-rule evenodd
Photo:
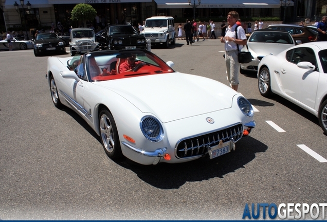
<path fill-rule="evenodd" d="M 238 90 L 239 87 L 239 70 L 240 63 L 238 58 L 238 45 L 239 50 L 243 48 L 247 43 L 245 31 L 242 26 L 238 26 L 236 22 L 238 21 L 239 13 L 235 11 L 231 11 L 227 15 L 227 30 L 226 35 L 221 36 L 220 41 L 225 43 L 225 63 L 227 68 L 227 78 L 231 84 L 232 89 L 235 91 Z M 237 28 L 236 38 L 235 28 Z"/>

